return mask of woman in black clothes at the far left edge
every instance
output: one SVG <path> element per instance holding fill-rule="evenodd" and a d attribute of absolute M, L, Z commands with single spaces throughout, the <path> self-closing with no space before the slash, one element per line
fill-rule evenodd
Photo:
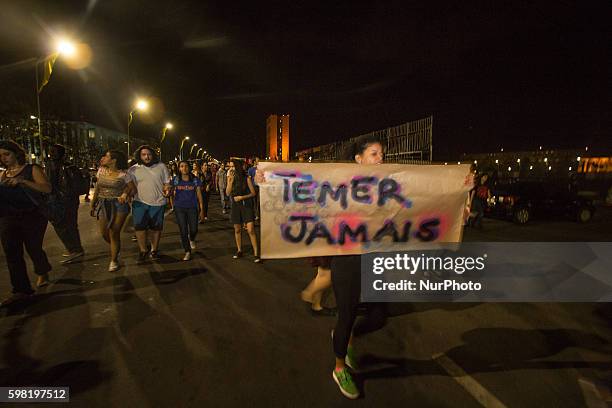
<path fill-rule="evenodd" d="M 47 217 L 42 203 L 43 194 L 51 192 L 51 184 L 38 165 L 26 163 L 25 150 L 13 141 L 0 141 L 0 164 L 6 169 L 0 173 L 0 241 L 13 287 L 11 296 L 0 306 L 8 306 L 34 293 L 23 258 L 24 247 L 38 275 L 36 285 L 49 284 L 51 264 L 43 250 Z"/>

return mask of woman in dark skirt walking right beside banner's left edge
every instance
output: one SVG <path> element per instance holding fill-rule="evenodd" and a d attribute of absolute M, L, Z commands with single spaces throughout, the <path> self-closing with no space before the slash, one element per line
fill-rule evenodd
<path fill-rule="evenodd" d="M 254 262 L 259 263 L 259 247 L 257 235 L 255 234 L 255 214 L 253 211 L 253 197 L 255 188 L 248 177 L 242 160 L 234 160 L 234 171 L 228 175 L 225 191 L 232 202 L 230 214 L 231 223 L 234 225 L 234 238 L 236 240 L 237 252 L 234 259 L 242 257 L 242 225 L 246 224 L 247 233 L 253 246 Z"/>

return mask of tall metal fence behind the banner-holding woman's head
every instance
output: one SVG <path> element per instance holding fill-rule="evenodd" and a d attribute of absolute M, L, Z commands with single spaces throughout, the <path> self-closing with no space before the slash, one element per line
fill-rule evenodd
<path fill-rule="evenodd" d="M 385 148 L 385 162 L 428 164 L 432 161 L 432 121 L 433 116 L 428 116 L 347 140 L 305 149 L 295 155 L 300 161 L 340 161 L 343 153 L 356 139 L 373 136 L 380 140 Z"/>

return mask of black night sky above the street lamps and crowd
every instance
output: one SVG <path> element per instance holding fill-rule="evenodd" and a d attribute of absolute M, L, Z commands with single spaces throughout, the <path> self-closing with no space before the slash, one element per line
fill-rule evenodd
<path fill-rule="evenodd" d="M 434 160 L 609 153 L 611 4 L 0 1 L 0 115 L 34 112 L 27 60 L 65 33 L 93 59 L 58 61 L 43 117 L 125 131 L 135 98 L 154 96 L 165 112 L 138 118 L 138 135 L 170 120 L 168 137 L 218 158 L 263 155 L 270 113 L 291 115 L 292 152 L 433 115 Z"/>

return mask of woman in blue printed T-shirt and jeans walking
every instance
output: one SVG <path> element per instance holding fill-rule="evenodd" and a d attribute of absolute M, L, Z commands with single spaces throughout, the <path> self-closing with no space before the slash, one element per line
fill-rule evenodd
<path fill-rule="evenodd" d="M 181 244 L 185 250 L 183 261 L 189 261 L 191 252 L 196 249 L 198 215 L 200 220 L 204 220 L 205 217 L 202 182 L 189 171 L 189 163 L 185 160 L 179 162 L 179 173 L 180 175 L 172 180 L 174 215 L 181 233 Z"/>

